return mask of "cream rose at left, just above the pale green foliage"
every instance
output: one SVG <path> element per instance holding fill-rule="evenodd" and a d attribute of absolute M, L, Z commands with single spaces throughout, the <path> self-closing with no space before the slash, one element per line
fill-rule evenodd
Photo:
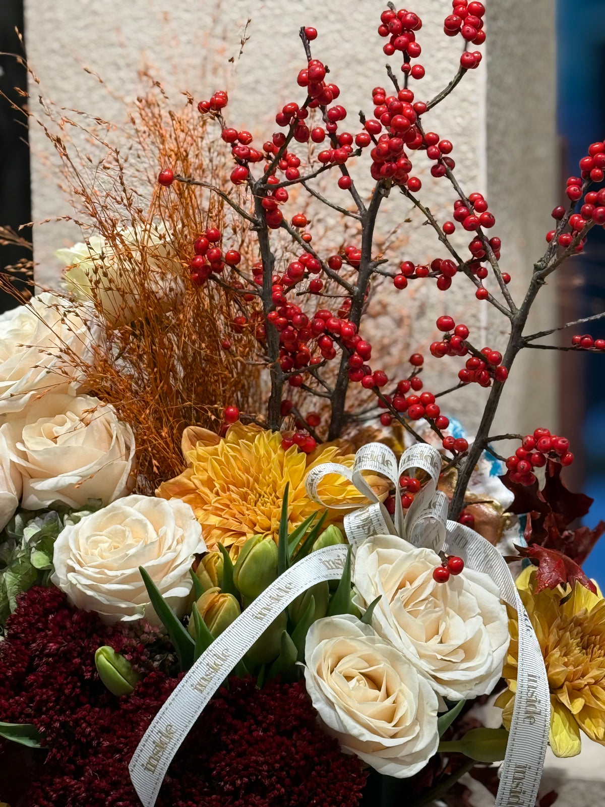
<path fill-rule="evenodd" d="M 131 428 L 111 406 L 90 395 L 43 395 L 0 426 L 0 500 L 13 493 L 28 510 L 109 504 L 128 491 L 134 453 Z"/>

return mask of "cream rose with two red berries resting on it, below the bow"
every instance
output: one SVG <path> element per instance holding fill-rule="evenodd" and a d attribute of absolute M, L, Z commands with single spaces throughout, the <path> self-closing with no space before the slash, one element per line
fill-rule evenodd
<path fill-rule="evenodd" d="M 498 587 L 465 568 L 447 583 L 432 577 L 441 560 L 433 550 L 393 535 L 364 541 L 355 556 L 357 605 L 381 596 L 372 624 L 424 675 L 454 700 L 494 688 L 508 647 L 506 608 Z"/>

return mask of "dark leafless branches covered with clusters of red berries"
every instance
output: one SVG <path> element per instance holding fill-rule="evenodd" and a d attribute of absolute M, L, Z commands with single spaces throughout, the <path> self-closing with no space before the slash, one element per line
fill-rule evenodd
<path fill-rule="evenodd" d="M 528 314 L 546 278 L 582 251 L 590 228 L 605 225 L 605 188 L 589 190 L 592 183 L 603 181 L 605 144 L 590 145 L 580 161 L 580 176 L 568 180 L 566 193 L 570 202 L 553 211 L 556 224 L 546 236 L 545 254 L 533 266 L 524 299 L 516 303 L 508 288 L 510 275 L 499 265 L 500 239 L 488 235 L 496 220 L 485 196 L 476 190 L 467 194 L 461 188 L 455 174 L 454 144 L 425 127 L 426 115 L 455 90 L 465 73 L 477 69 L 482 59 L 481 52 L 470 48 L 480 46 L 486 39 L 485 7 L 469 0 L 453 0 L 452 5 L 453 13 L 444 19 L 444 33 L 460 37 L 464 50 L 456 75 L 434 98 L 419 98 L 418 82 L 425 73 L 424 65 L 418 61 L 422 20 L 414 12 L 397 10 L 389 3 L 380 17 L 378 35 L 386 40 L 386 56 L 400 61 L 401 84 L 386 65 L 393 89 L 374 87 L 372 117 L 361 112 L 361 129 L 356 132 L 351 127 L 348 131 L 344 123 L 348 113 L 339 103 L 340 87 L 332 81 L 328 66 L 311 53 L 317 31 L 301 28 L 306 63 L 298 71 L 296 85 L 303 93 L 277 111 L 279 131 L 264 143 L 255 144 L 250 132 L 227 124 L 226 92 L 218 91 L 198 104 L 200 113 L 215 120 L 223 141 L 232 148 L 233 193 L 202 179 L 175 176 L 169 168 L 161 171 L 158 182 L 165 187 L 173 182 L 188 182 L 219 194 L 233 215 L 247 223 L 248 235 L 256 239 L 258 261 L 252 266 L 242 266 L 237 245 L 228 244 L 227 232 L 212 226 L 192 243 L 190 281 L 198 286 L 216 282 L 236 293 L 240 314 L 234 317 L 232 335 L 223 341 L 223 348 L 232 349 L 238 333 L 252 332 L 257 340 L 258 361 L 269 370 L 266 416 L 257 420 L 255 415 L 240 415 L 235 407 L 228 407 L 225 422 L 233 423 L 241 416 L 248 422 L 254 420 L 269 429 L 282 430 L 289 419 L 287 424 L 294 424 L 294 429 L 282 431 L 283 445 L 297 445 L 311 453 L 318 442 L 340 437 L 349 424 L 372 419 L 379 419 L 385 427 L 401 424 L 422 440 L 419 424 L 424 420 L 449 454 L 446 467 L 457 466 L 450 516 L 472 525 L 473 516 L 463 509 L 465 489 L 484 450 L 499 456 L 490 447 L 492 442 L 519 439 L 519 448 L 506 462 L 512 482 L 521 485 L 532 485 L 536 479 L 533 470 L 545 466 L 547 460 L 563 466 L 573 461 L 569 441 L 547 429 L 537 428 L 525 437 L 490 437 L 490 429 L 503 385 L 521 349 L 605 349 L 605 341 L 595 341 L 588 334 L 574 336 L 570 345 L 537 342 L 563 328 L 599 319 L 605 312 L 524 335 Z M 422 182 L 414 175 L 414 166 L 424 159 L 423 154 L 431 163 L 434 181 L 449 182 L 453 189 L 451 218 L 443 223 L 420 199 Z M 355 185 L 353 163 L 356 171 L 369 170 L 374 180 L 367 199 Z M 342 193 L 341 203 L 328 199 L 319 190 L 314 184 L 319 177 L 324 184 L 332 182 Z M 293 187 L 297 189 L 297 202 L 315 199 L 341 216 L 346 235 L 337 253 L 327 254 L 323 247 L 314 245 L 313 222 L 304 204 L 303 209 L 289 209 Z M 376 249 L 375 228 L 382 200 L 396 190 L 420 211 L 444 249 L 445 254 L 428 265 L 416 265 L 388 249 L 385 254 Z M 450 240 L 460 228 L 469 233 L 466 254 Z M 489 304 L 508 320 L 510 331 L 503 352 L 474 344 L 466 324 L 456 323 L 451 316 L 440 316 L 436 327 L 441 337 L 432 342 L 430 353 L 433 358 L 448 361 L 464 359 L 458 370 L 459 383 L 442 391 L 424 389 L 422 353 L 413 353 L 409 358 L 407 376 L 388 378 L 384 370 L 371 364 L 373 348 L 364 332 L 373 287 L 384 282 L 383 278 L 390 278 L 396 291 L 404 291 L 415 282 L 435 282 L 437 290 L 445 292 L 457 275 L 462 277 L 456 282 L 473 284 L 479 304 Z M 485 285 L 489 276 L 495 281 L 493 292 Z M 437 402 L 441 396 L 470 383 L 489 388 L 490 393 L 478 433 L 469 445 L 465 439 L 446 433 L 449 420 Z M 356 395 L 349 395 L 352 387 L 357 387 Z M 360 406 L 362 391 L 373 398 Z M 411 504 L 416 485 L 415 479 L 402 480 L 404 507 Z M 394 509 L 394 500 L 387 500 L 386 505 Z M 450 573 L 457 574 L 457 561 L 458 558 L 449 558 L 436 573 L 444 579 Z"/>

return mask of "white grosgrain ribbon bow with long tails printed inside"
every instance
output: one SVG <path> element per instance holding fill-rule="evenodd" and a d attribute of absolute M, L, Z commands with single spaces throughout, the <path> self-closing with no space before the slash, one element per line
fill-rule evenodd
<path fill-rule="evenodd" d="M 423 470 L 428 479 L 403 518 L 399 477 Z M 353 468 L 327 462 L 307 475 L 307 493 L 319 504 L 319 483 L 328 475 L 342 475 L 372 504 L 344 516 L 348 541 L 355 547 L 373 535 L 396 534 L 415 546 L 458 554 L 465 564 L 485 572 L 498 585 L 505 602 L 519 616 L 517 692 L 507 753 L 500 771 L 495 807 L 534 807 L 546 753 L 550 725 L 549 685 L 536 634 L 507 563 L 489 541 L 456 521 L 447 521 L 448 500 L 436 491 L 441 456 L 431 445 L 416 444 L 397 462 L 382 443 L 364 445 Z M 395 521 L 363 477 L 364 472 L 386 476 L 395 488 Z M 328 506 L 328 504 L 326 504 Z M 350 507 L 332 504 L 331 508 Z M 169 764 L 181 742 L 233 667 L 254 642 L 299 594 L 323 580 L 340 579 L 347 556 L 345 546 L 328 546 L 294 564 L 265 589 L 200 656 L 156 714 L 137 746 L 129 770 L 144 807 L 153 807 Z"/>

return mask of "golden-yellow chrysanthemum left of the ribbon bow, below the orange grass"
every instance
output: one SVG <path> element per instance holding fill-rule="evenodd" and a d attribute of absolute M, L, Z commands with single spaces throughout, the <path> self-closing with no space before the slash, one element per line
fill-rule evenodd
<path fill-rule="evenodd" d="M 289 521 L 294 529 L 320 509 L 305 490 L 308 471 L 322 462 L 353 465 L 353 456 L 343 456 L 338 445 L 320 445 L 307 456 L 296 446 L 284 450 L 278 433 L 240 423 L 232 425 L 223 439 L 206 429 L 187 429 L 183 454 L 189 467 L 162 483 L 156 495 L 188 502 L 202 525 L 208 548 L 221 543 L 230 547 L 232 556 L 251 535 L 266 533 L 277 540 L 286 483 L 290 483 Z M 378 478 L 369 481 L 382 484 L 378 492 L 386 492 Z M 367 503 L 337 474 L 320 483 L 319 495 L 328 504 L 346 503 L 351 508 Z M 328 511 L 326 525 L 342 514 L 342 510 Z"/>

